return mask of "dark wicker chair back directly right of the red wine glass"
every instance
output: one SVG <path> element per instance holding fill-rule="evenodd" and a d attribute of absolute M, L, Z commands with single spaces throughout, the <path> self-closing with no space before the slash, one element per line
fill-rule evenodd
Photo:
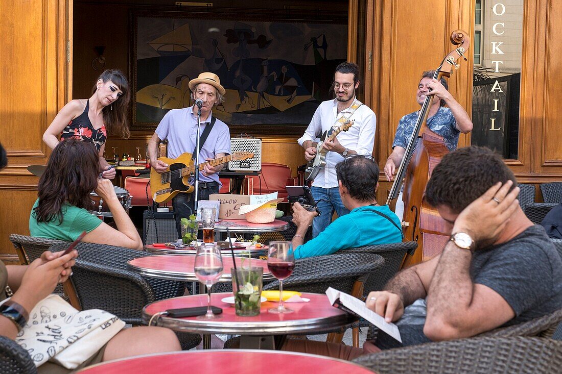
<path fill-rule="evenodd" d="M 355 282 L 364 281 L 369 273 L 383 263 L 382 257 L 371 253 L 336 253 L 300 258 L 294 261 L 294 271 L 283 281 L 283 286 L 310 293 L 324 293 L 328 287 L 333 287 L 352 294 Z M 264 290 L 278 289 L 278 280 L 264 286 Z"/>

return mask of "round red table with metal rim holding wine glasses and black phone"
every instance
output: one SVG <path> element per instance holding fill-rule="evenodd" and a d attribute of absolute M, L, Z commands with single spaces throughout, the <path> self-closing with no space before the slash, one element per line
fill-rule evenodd
<path fill-rule="evenodd" d="M 213 320 L 199 320 L 197 317 L 172 318 L 159 316 L 153 318 L 157 326 L 175 331 L 188 331 L 197 334 L 236 334 L 242 335 L 240 348 L 275 349 L 274 335 L 322 334 L 351 325 L 357 318 L 341 309 L 334 308 L 325 294 L 303 293 L 310 302 L 285 303 L 293 313 L 274 314 L 268 309 L 277 307 L 278 302 L 261 303 L 260 314 L 255 317 L 240 317 L 230 304 L 221 299 L 232 293 L 211 294 L 211 305 L 223 309 Z M 142 311 L 142 322 L 147 324 L 156 313 L 167 309 L 206 307 L 207 295 L 191 295 L 160 300 L 146 305 Z M 205 345 L 205 341 L 203 341 Z M 208 348 L 208 347 L 203 347 Z"/>

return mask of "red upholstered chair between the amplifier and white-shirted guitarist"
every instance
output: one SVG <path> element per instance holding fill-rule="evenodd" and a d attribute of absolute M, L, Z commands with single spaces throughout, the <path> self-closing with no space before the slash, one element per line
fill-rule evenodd
<path fill-rule="evenodd" d="M 287 202 L 285 186 L 296 185 L 298 185 L 298 179 L 291 177 L 290 167 L 280 163 L 262 162 L 259 176 L 246 176 L 244 179 L 243 194 L 259 195 L 277 191 L 278 197 Z"/>

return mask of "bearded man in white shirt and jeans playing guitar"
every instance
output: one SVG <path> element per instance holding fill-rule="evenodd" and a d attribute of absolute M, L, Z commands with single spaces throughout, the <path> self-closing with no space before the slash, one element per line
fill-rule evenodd
<path fill-rule="evenodd" d="M 326 165 L 314 178 L 311 188 L 312 197 L 318 202 L 321 212 L 312 222 L 313 237 L 332 222 L 334 209 L 338 216 L 350 212 L 339 197 L 336 164 L 348 154 L 373 153 L 377 119 L 375 113 L 355 97 L 355 90 L 359 87 L 359 66 L 352 62 L 339 64 L 334 74 L 333 87 L 336 99 L 320 104 L 305 134 L 298 139 L 298 144 L 305 149 L 306 160 L 310 161 L 316 154 L 315 142 L 318 142 L 324 131 L 347 120 L 353 121 L 348 131 L 342 131 L 334 140 L 324 142 L 323 148 L 329 151 L 325 157 Z M 345 118 L 343 122 L 340 121 L 342 117 Z"/>

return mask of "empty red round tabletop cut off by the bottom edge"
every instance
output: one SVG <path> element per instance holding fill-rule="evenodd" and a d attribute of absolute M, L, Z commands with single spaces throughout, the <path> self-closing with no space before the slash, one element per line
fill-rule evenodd
<path fill-rule="evenodd" d="M 250 349 L 219 349 L 141 355 L 99 363 L 83 374 L 373 374 L 368 368 L 315 354 Z"/>

